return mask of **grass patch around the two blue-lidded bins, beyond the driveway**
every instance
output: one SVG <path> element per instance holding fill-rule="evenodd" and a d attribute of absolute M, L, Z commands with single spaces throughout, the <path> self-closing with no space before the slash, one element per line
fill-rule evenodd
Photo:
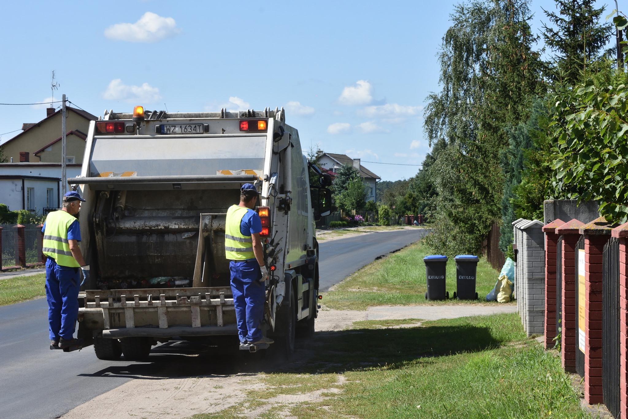
<path fill-rule="evenodd" d="M 484 258 L 477 264 L 475 290 L 477 302 L 470 300 L 427 301 L 425 292 L 427 283 L 423 258 L 431 254 L 431 250 L 416 242 L 389 254 L 386 258 L 374 261 L 350 275 L 344 281 L 323 294 L 326 307 L 337 310 L 366 310 L 373 305 L 406 305 L 406 304 L 452 304 L 452 303 L 487 303 L 485 295 L 495 286 L 499 272 L 490 266 Z M 456 290 L 456 263 L 453 259 L 447 262 L 447 290 L 450 297 Z"/>

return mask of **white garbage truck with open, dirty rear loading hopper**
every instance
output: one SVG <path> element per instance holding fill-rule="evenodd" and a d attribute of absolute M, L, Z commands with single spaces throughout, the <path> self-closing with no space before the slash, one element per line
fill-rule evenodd
<path fill-rule="evenodd" d="M 68 184 L 87 200 L 78 219 L 91 266 L 77 334 L 99 359 L 146 359 L 172 339 L 237 349 L 225 216 L 244 183 L 261 193 L 264 335 L 290 353 L 295 334 L 313 333 L 315 221 L 330 212 L 331 177 L 303 155 L 283 108 L 105 111 L 86 142 L 80 176 Z"/>

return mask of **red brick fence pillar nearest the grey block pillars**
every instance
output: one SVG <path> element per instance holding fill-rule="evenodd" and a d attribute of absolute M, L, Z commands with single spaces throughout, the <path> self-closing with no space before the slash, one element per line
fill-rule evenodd
<path fill-rule="evenodd" d="M 556 219 L 543 226 L 545 233 L 545 349 L 554 346 L 556 330 L 556 245 L 558 234 L 556 227 L 565 224 Z M 560 279 L 559 279 L 560 280 Z"/>

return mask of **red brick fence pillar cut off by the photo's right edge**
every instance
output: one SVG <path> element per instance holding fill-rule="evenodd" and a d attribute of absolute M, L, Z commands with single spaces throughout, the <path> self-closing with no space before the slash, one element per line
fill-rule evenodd
<path fill-rule="evenodd" d="M 619 417 L 628 418 L 628 222 L 612 236 L 619 239 Z"/>

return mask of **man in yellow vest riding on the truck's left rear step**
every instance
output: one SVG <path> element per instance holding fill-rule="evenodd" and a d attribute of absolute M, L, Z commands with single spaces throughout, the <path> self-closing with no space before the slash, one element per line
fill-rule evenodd
<path fill-rule="evenodd" d="M 46 300 L 48 300 L 48 330 L 50 349 L 82 347 L 83 339 L 75 339 L 78 318 L 78 289 L 80 268 L 83 281 L 89 278 L 89 265 L 78 248 L 80 227 L 74 216 L 85 202 L 78 192 L 63 196 L 63 207 L 50 212 L 41 231 L 43 254 L 46 255 Z"/>

